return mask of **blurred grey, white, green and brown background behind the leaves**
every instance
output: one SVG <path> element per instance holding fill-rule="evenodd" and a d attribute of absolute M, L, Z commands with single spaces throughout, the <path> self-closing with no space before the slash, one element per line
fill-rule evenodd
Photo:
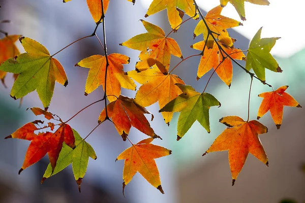
<path fill-rule="evenodd" d="M 106 14 L 108 51 L 131 57 L 130 64 L 124 66 L 125 71 L 134 69 L 139 51 L 118 44 L 146 32 L 139 19 L 144 18 L 150 2 L 137 0 L 133 6 L 126 0 L 110 1 Z M 208 10 L 219 5 L 219 1 L 198 1 L 198 4 L 205 15 Z M 32 38 L 43 44 L 51 54 L 90 35 L 96 26 L 84 0 L 73 0 L 66 4 L 62 0 L 0 0 L 0 5 L 0 20 L 12 21 L 9 24 L 0 24 L 0 29 L 12 35 L 20 34 Z M 305 41 L 295 38 L 304 31 L 301 26 L 301 9 L 305 8 L 305 2 L 293 0 L 288 5 L 285 1 L 270 0 L 268 7 L 250 3 L 245 3 L 245 7 L 247 21 L 242 22 L 244 26 L 229 30 L 231 37 L 238 40 L 234 46 L 241 50 L 248 49 L 250 40 L 261 26 L 264 26 L 262 37 L 282 37 L 271 53 L 275 55 L 283 73 L 266 70 L 266 81 L 275 88 L 289 85 L 286 92 L 305 106 Z M 230 4 L 224 9 L 223 15 L 239 19 Z M 166 33 L 170 31 L 166 11 L 146 20 L 161 26 Z M 170 36 L 178 42 L 184 57 L 199 53 L 190 48 L 190 45 L 202 40 L 201 36 L 193 40 L 193 30 L 197 23 L 198 21 L 190 20 Z M 97 34 L 102 39 L 102 26 Z M 23 52 L 20 43 L 17 42 L 17 46 Z M 96 38 L 84 39 L 56 55 L 65 67 L 69 85 L 66 88 L 55 85 L 49 111 L 63 120 L 68 120 L 83 107 L 103 97 L 102 87 L 84 96 L 88 70 L 74 67 L 81 59 L 93 54 L 104 54 Z M 171 67 L 179 61 L 179 58 L 173 56 Z M 244 64 L 243 61 L 241 63 Z M 211 72 L 196 81 L 198 64 L 199 58 L 192 57 L 182 62 L 174 74 L 179 75 L 197 91 L 202 91 Z M 9 95 L 13 84 L 11 74 L 8 74 L 6 84 L 9 87 L 7 89 L 0 85 L 2 138 L 36 119 L 32 112 L 25 111 L 28 107 L 42 108 L 35 91 L 25 96 L 21 108 L 18 109 L 19 100 L 15 101 Z M 78 192 L 71 166 L 40 184 L 48 164 L 47 157 L 18 176 L 29 142 L 14 139 L 0 141 L 0 202 L 280 202 L 284 198 L 303 202 L 305 174 L 301 165 L 305 162 L 304 108 L 285 107 L 280 130 L 277 130 L 270 113 L 260 119 L 268 127 L 268 133 L 262 134 L 260 139 L 269 158 L 269 167 L 249 155 L 234 187 L 231 186 L 228 152 L 201 156 L 225 129 L 225 125 L 218 122 L 220 118 L 229 115 L 247 117 L 249 85 L 249 75 L 236 66 L 230 89 L 218 76 L 213 76 L 207 92 L 213 94 L 222 106 L 210 109 L 211 133 L 208 134 L 195 122 L 179 142 L 176 141 L 179 114 L 174 114 L 168 127 L 158 113 L 158 104 L 148 107 L 155 116 L 151 126 L 163 138 L 163 141 L 156 140 L 154 144 L 173 151 L 172 155 L 156 160 L 164 195 L 149 185 L 141 175 L 136 174 L 125 188 L 124 198 L 121 192 L 124 161 L 114 160 L 130 147 L 130 143 L 123 142 L 110 123 L 104 123 L 86 140 L 95 149 L 98 159 L 89 160 L 81 193 Z M 137 89 L 139 86 L 138 84 Z M 253 81 L 250 119 L 256 119 L 262 100 L 256 95 L 265 91 L 270 89 L 259 81 Z M 123 90 L 122 94 L 134 97 L 135 92 Z M 85 137 L 97 125 L 103 108 L 103 104 L 98 103 L 83 111 L 69 124 Z M 136 143 L 146 136 L 132 128 L 130 138 Z"/>

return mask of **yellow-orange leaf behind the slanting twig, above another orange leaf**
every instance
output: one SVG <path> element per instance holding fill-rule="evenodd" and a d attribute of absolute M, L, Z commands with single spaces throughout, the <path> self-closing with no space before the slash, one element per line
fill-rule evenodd
<path fill-rule="evenodd" d="M 222 9 L 223 8 L 221 6 L 217 6 L 214 9 L 211 9 L 209 12 L 207 12 L 205 16 L 205 21 L 211 31 L 219 34 L 219 36 L 216 36 L 216 38 L 218 38 L 224 45 L 232 47 L 233 41 L 232 38 L 229 36 L 227 29 L 242 25 L 242 23 L 238 22 L 237 20 L 220 15 Z M 196 25 L 194 30 L 194 38 L 199 36 L 200 34 L 203 35 L 203 40 L 206 42 L 207 48 L 212 48 L 214 44 L 214 39 L 211 36 L 209 36 L 207 39 L 208 29 L 203 20 L 200 20 Z"/>

